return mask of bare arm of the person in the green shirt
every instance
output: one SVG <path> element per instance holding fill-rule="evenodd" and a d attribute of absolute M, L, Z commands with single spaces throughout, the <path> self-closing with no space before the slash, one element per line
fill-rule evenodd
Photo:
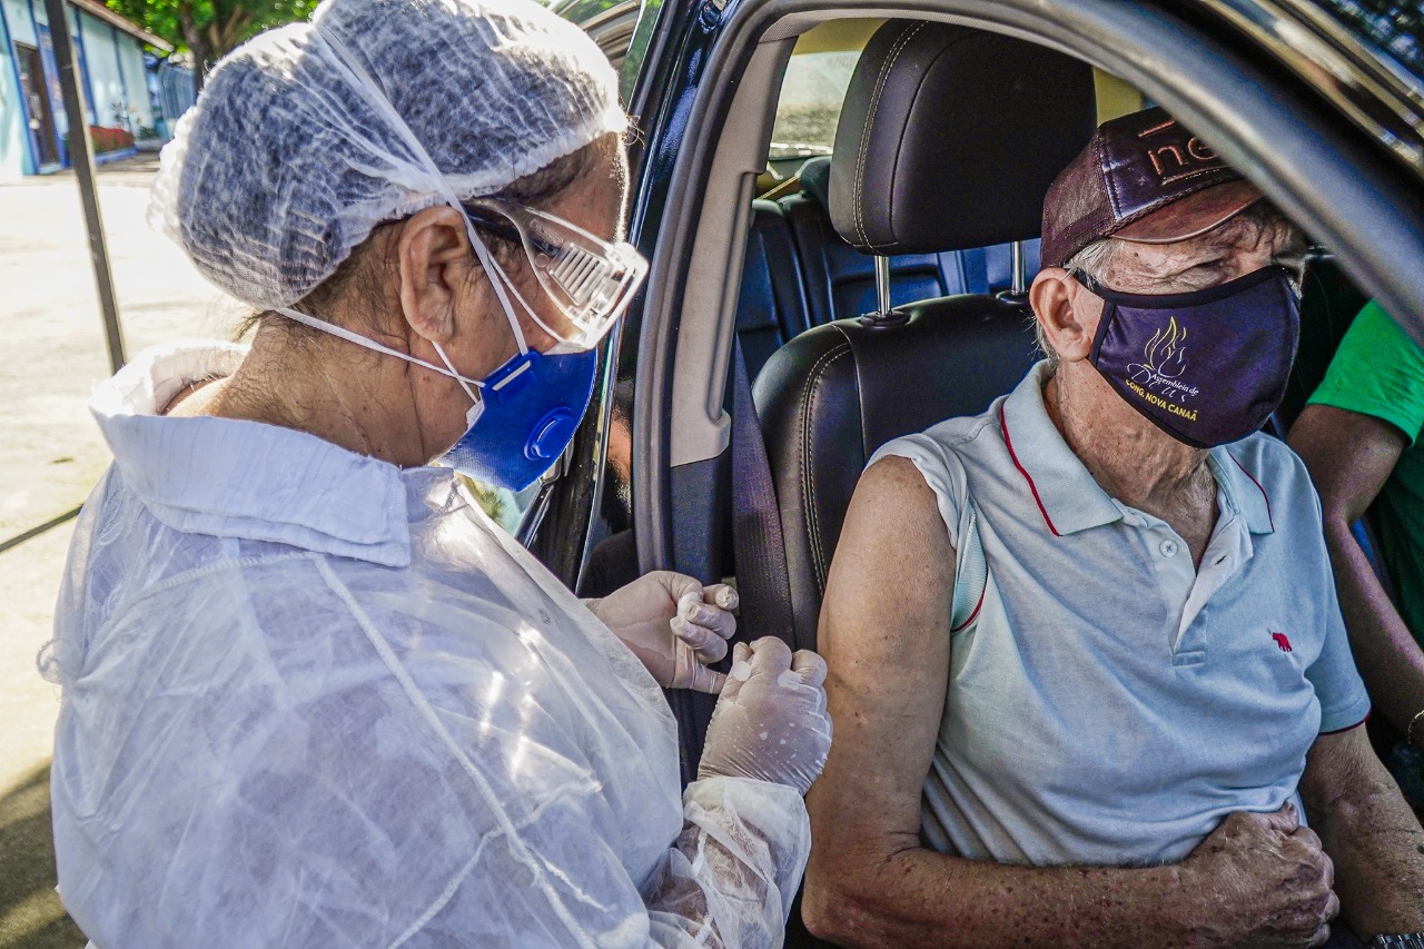
<path fill-rule="evenodd" d="M 1383 419 L 1307 405 L 1290 429 L 1290 447 L 1320 492 L 1326 547 L 1340 593 L 1350 648 L 1374 705 L 1405 732 L 1424 710 L 1424 651 L 1370 567 L 1350 526 L 1368 510 L 1408 445 Z M 1424 748 L 1424 727 L 1414 728 Z"/>

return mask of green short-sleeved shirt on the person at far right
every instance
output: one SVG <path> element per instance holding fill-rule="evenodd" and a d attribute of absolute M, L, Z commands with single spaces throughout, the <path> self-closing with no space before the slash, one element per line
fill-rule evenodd
<path fill-rule="evenodd" d="M 1424 351 L 1378 304 L 1354 318 L 1312 403 L 1384 419 L 1410 440 L 1376 502 L 1380 554 L 1400 613 L 1424 645 Z"/>

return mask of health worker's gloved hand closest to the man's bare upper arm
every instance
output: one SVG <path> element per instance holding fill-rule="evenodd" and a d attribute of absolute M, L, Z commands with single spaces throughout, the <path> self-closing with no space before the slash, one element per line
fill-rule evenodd
<path fill-rule="evenodd" d="M 806 794 L 830 752 L 826 660 L 766 637 L 732 651 L 698 778 L 770 781 Z"/>

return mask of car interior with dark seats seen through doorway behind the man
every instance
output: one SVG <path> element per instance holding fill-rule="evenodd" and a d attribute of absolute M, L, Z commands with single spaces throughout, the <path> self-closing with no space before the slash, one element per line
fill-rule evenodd
<path fill-rule="evenodd" d="M 649 339 L 644 323 L 635 378 L 611 408 L 615 530 L 590 544 L 581 596 L 671 564 L 740 584 L 739 640 L 815 648 L 866 460 L 984 410 L 1035 362 L 1024 288 L 1048 184 L 1098 123 L 1148 104 L 1082 58 L 973 26 L 849 17 L 763 37 L 715 140 L 696 227 L 659 238 L 645 306 L 675 312 L 675 335 Z M 691 266 L 659 301 L 668 256 Z M 1279 436 L 1366 301 L 1323 248 L 1309 264 Z M 654 386 L 664 399 L 645 396 Z M 651 423 L 659 405 L 666 426 Z M 662 442 L 639 445 L 649 436 Z M 639 457 L 661 463 L 632 470 Z M 672 523 L 629 510 L 639 474 L 668 490 Z M 648 543 L 658 537 L 669 556 Z M 712 701 L 669 701 L 691 772 Z"/>

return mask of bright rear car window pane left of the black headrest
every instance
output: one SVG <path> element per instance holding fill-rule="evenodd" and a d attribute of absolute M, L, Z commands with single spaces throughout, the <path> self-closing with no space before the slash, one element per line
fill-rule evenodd
<path fill-rule="evenodd" d="M 786 66 L 772 125 L 772 161 L 829 155 L 859 50 L 802 53 Z"/>

